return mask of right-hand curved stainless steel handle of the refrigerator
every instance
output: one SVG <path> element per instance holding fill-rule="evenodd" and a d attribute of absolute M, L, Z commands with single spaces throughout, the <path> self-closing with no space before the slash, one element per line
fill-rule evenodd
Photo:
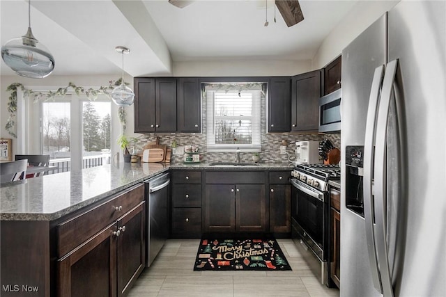
<path fill-rule="evenodd" d="M 374 194 L 376 201 L 375 239 L 381 284 L 383 285 L 383 295 L 386 297 L 393 296 L 392 278 L 390 275 L 387 250 L 387 119 L 389 116 L 392 95 L 394 95 L 393 85 L 397 73 L 397 66 L 398 60 L 387 63 L 376 122 L 376 150 L 374 164 Z"/>

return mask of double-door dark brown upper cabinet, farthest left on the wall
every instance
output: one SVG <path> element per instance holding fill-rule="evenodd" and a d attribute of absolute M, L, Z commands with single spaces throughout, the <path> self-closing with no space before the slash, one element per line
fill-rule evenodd
<path fill-rule="evenodd" d="M 134 132 L 175 132 L 176 78 L 134 78 Z"/>

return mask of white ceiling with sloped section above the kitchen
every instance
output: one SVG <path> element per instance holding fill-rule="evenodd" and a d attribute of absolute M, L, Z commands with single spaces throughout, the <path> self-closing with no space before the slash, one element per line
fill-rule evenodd
<path fill-rule="evenodd" d="M 266 6 L 268 2 L 268 26 Z M 273 0 L 31 0 L 31 28 L 56 60 L 52 75 L 170 74 L 176 61 L 308 60 L 357 0 L 300 0 L 304 21 L 288 28 Z M 28 3 L 1 0 L 1 45 L 24 35 Z M 1 61 L 1 75 L 12 75 Z"/>

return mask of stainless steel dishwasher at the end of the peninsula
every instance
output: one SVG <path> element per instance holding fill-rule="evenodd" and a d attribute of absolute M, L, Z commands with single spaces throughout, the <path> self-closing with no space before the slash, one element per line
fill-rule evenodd
<path fill-rule="evenodd" d="M 146 181 L 146 267 L 151 266 L 169 237 L 169 172 Z"/>

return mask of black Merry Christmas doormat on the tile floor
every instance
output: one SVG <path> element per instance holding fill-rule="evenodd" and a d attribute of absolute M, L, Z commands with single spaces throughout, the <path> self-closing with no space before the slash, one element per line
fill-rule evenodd
<path fill-rule="evenodd" d="M 291 270 L 275 239 L 201 239 L 194 271 Z"/>

